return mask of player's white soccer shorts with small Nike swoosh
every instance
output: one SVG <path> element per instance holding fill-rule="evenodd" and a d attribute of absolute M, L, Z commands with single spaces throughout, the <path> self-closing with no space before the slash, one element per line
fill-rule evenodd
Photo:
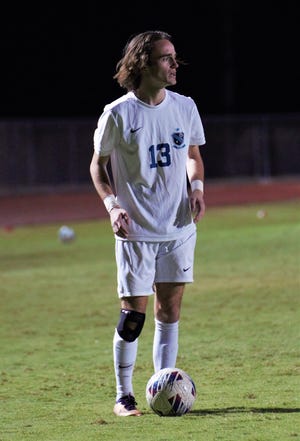
<path fill-rule="evenodd" d="M 119 297 L 154 294 L 154 283 L 194 281 L 196 232 L 167 242 L 116 240 Z"/>

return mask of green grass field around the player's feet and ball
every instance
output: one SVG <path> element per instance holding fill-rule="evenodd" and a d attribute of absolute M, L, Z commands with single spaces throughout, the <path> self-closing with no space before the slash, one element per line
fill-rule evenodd
<path fill-rule="evenodd" d="M 300 202 L 208 208 L 177 366 L 193 410 L 147 407 L 152 299 L 135 370 L 140 418 L 112 413 L 119 314 L 107 220 L 0 232 L 0 441 L 300 440 Z"/>

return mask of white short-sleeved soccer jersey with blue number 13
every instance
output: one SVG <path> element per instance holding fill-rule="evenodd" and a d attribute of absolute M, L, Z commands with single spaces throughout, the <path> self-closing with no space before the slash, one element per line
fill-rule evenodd
<path fill-rule="evenodd" d="M 189 146 L 203 144 L 190 97 L 166 90 L 164 101 L 150 106 L 129 92 L 105 106 L 94 149 L 110 155 L 118 203 L 131 217 L 128 240 L 161 242 L 195 231 L 186 161 Z"/>

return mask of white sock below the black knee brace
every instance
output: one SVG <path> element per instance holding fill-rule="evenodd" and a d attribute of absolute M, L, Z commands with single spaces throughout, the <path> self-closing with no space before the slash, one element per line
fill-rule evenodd
<path fill-rule="evenodd" d="M 113 339 L 114 368 L 117 400 L 124 395 L 134 395 L 132 375 L 136 361 L 138 339 L 133 342 L 123 340 L 115 330 Z"/>

